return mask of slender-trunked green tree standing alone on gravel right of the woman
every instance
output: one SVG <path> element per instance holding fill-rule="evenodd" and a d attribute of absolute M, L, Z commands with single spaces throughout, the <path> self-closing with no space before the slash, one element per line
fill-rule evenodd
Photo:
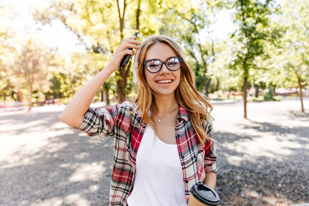
<path fill-rule="evenodd" d="M 235 39 L 232 67 L 243 74 L 244 118 L 247 118 L 247 89 L 250 69 L 257 67 L 257 57 L 267 58 L 264 44 L 274 39 L 268 26 L 270 14 L 275 11 L 273 0 L 235 0 L 235 23 L 239 25 L 233 34 Z"/>

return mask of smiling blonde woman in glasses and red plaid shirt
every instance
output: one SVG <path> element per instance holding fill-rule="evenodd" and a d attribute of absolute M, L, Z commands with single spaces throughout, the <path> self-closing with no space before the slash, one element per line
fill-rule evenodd
<path fill-rule="evenodd" d="M 196 182 L 216 184 L 212 106 L 195 89 L 176 41 L 163 35 L 142 43 L 135 38 L 125 39 L 107 67 L 77 92 L 61 121 L 89 136 L 115 138 L 111 206 L 187 206 Z M 135 54 L 127 48 L 137 50 L 135 103 L 90 108 L 123 56 Z"/>

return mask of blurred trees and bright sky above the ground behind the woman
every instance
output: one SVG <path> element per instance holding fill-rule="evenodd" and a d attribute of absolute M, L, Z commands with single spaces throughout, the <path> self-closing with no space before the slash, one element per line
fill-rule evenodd
<path fill-rule="evenodd" d="M 308 13 L 304 0 L 0 0 L 0 106 L 68 103 L 138 29 L 176 39 L 211 99 L 297 98 L 304 112 Z M 132 68 L 94 101 L 133 100 Z"/>

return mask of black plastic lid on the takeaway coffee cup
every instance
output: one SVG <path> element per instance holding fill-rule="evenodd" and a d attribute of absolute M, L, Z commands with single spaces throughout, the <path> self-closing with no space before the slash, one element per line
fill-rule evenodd
<path fill-rule="evenodd" d="M 220 203 L 218 193 L 201 182 L 196 182 L 195 185 L 192 186 L 191 193 L 196 200 L 205 205 L 217 206 Z"/>

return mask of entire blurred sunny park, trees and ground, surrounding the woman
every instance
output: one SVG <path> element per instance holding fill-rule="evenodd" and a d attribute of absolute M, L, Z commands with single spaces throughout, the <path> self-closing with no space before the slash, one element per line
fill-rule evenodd
<path fill-rule="evenodd" d="M 109 205 L 114 139 L 59 116 L 136 30 L 177 40 L 211 99 L 221 206 L 309 206 L 308 14 L 308 0 L 0 0 L 0 206 Z M 91 106 L 134 101 L 132 71 Z"/>

